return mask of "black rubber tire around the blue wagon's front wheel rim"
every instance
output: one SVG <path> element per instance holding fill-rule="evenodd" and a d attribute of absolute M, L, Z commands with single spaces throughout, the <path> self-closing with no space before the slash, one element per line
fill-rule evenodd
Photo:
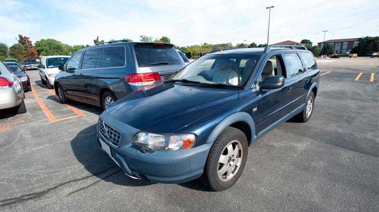
<path fill-rule="evenodd" d="M 220 179 L 218 171 L 219 169 L 221 171 L 223 167 L 226 166 L 226 164 L 222 165 L 222 163 L 219 163 L 219 159 L 221 157 L 221 154 L 224 155 L 225 151 L 227 151 L 227 146 L 229 146 L 230 143 L 235 141 L 239 141 L 242 147 L 242 150 L 240 150 L 238 153 L 241 157 L 242 162 L 240 164 L 239 169 L 236 168 L 238 166 L 234 168 L 234 175 L 228 181 L 225 181 L 225 178 L 223 179 L 223 181 Z M 225 156 L 228 157 L 227 155 Z M 209 152 L 208 159 L 204 168 L 204 173 L 202 176 L 202 181 L 204 185 L 208 186 L 211 190 L 214 191 L 223 191 L 230 188 L 240 178 L 242 172 L 244 171 L 247 157 L 248 140 L 246 138 L 245 133 L 234 127 L 227 127 L 224 130 L 224 132 L 222 132 L 222 134 L 217 138 L 217 140 L 212 146 L 211 151 Z M 227 160 L 227 163 L 229 163 L 229 161 L 230 163 L 234 162 L 234 159 L 232 159 L 232 157 L 228 158 L 229 159 Z M 229 167 L 231 166 L 229 165 Z"/>

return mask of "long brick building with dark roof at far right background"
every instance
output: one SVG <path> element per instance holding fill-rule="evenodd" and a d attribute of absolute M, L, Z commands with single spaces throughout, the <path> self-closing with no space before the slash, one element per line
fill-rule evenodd
<path fill-rule="evenodd" d="M 318 47 L 322 49 L 324 44 L 331 44 L 334 49 L 335 54 L 345 54 L 350 52 L 352 48 L 358 45 L 359 41 L 362 38 L 346 38 L 346 39 L 334 39 L 334 40 L 325 40 L 324 42 L 319 42 Z"/>

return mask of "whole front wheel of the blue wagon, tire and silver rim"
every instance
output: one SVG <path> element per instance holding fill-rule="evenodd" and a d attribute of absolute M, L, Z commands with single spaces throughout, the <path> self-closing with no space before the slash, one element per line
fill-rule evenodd
<path fill-rule="evenodd" d="M 244 132 L 227 127 L 217 138 L 202 176 L 210 189 L 222 191 L 231 187 L 241 176 L 248 156 L 248 140 Z"/>

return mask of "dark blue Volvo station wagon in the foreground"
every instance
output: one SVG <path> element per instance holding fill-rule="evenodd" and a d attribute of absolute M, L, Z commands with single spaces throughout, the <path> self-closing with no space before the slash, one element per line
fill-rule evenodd
<path fill-rule="evenodd" d="M 311 118 L 319 76 L 307 50 L 207 54 L 114 102 L 100 116 L 98 140 L 131 178 L 201 177 L 210 189 L 225 190 L 241 176 L 258 138 L 290 118 Z"/>

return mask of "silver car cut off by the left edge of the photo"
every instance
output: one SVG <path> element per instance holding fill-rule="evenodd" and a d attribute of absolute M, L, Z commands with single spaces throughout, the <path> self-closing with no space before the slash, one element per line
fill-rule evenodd
<path fill-rule="evenodd" d="M 14 108 L 16 113 L 26 112 L 24 91 L 19 78 L 0 62 L 0 109 L 7 108 Z"/>

